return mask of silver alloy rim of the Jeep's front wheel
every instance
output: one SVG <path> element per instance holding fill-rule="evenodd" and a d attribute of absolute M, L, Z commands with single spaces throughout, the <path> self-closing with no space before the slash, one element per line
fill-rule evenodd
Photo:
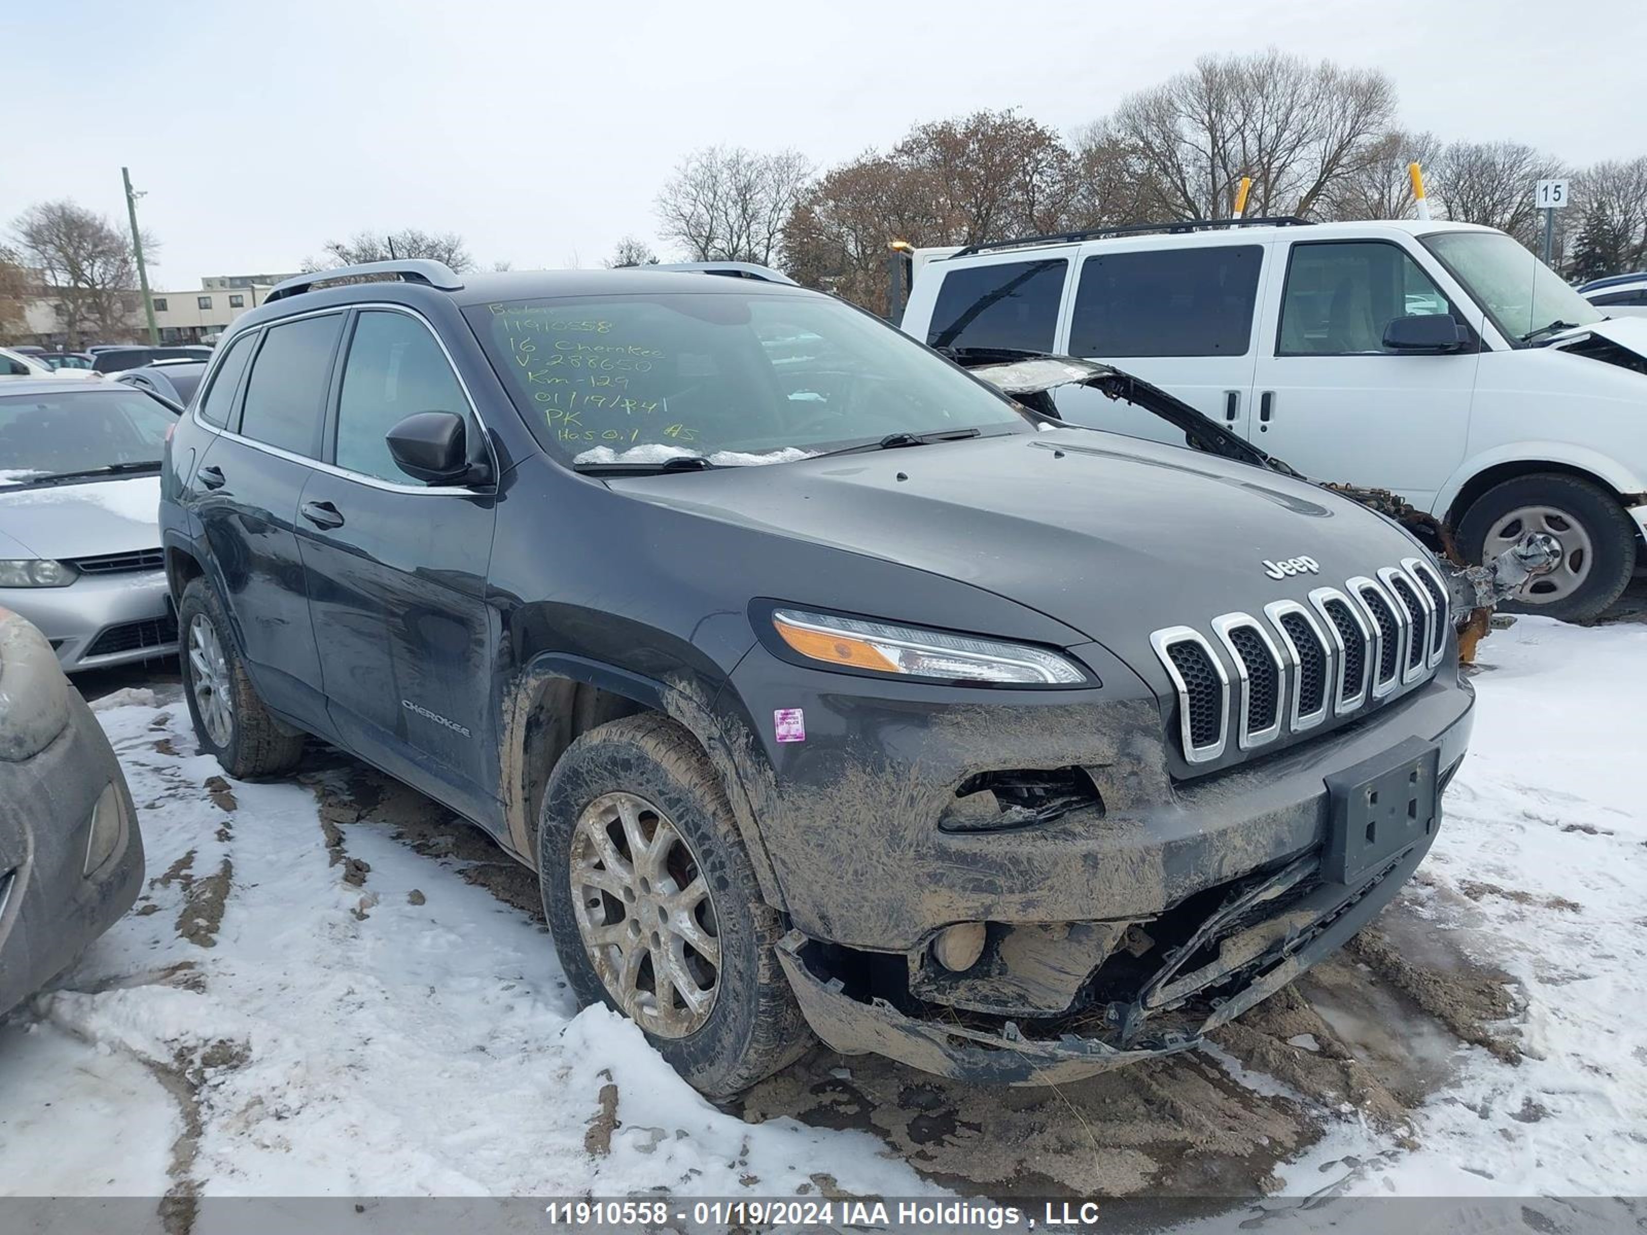
<path fill-rule="evenodd" d="M 687 838 L 634 794 L 603 794 L 572 835 L 572 904 L 606 993 L 642 1029 L 687 1037 L 720 988 L 715 897 Z"/>

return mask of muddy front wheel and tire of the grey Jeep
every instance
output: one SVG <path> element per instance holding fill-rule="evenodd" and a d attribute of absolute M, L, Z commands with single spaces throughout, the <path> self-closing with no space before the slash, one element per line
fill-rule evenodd
<path fill-rule="evenodd" d="M 629 1016 L 702 1093 L 738 1093 L 812 1044 L 774 952 L 782 922 L 675 721 L 626 716 L 567 748 L 544 794 L 539 878 L 578 1001 Z"/>

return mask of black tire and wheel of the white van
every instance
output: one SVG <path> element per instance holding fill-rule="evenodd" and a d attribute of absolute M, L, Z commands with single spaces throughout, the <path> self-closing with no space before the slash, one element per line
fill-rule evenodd
<path fill-rule="evenodd" d="M 1495 484 L 1458 525 L 1471 562 L 1497 557 L 1523 532 L 1561 542 L 1561 565 L 1537 580 L 1509 613 L 1538 613 L 1570 622 L 1599 618 L 1624 593 L 1635 570 L 1635 524 L 1606 489 L 1565 473 L 1535 473 Z"/>

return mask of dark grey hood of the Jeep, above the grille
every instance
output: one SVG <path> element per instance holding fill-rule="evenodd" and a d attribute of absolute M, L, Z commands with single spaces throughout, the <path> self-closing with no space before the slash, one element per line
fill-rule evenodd
<path fill-rule="evenodd" d="M 608 484 L 985 588 L 1135 667 L 1151 631 L 1262 613 L 1421 553 L 1382 515 L 1308 482 L 1075 428 Z M 1271 578 L 1265 563 L 1295 558 L 1319 573 Z"/>

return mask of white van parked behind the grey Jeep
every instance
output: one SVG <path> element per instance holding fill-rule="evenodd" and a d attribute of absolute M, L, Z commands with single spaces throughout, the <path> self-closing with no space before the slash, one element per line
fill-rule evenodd
<path fill-rule="evenodd" d="M 1647 319 L 1609 319 L 1491 227 L 1173 227 L 934 255 L 903 328 L 1113 364 L 1306 476 L 1395 491 L 1472 560 L 1553 534 L 1561 566 L 1527 608 L 1584 619 L 1617 599 L 1647 529 Z M 1059 412 L 1171 433 L 1084 389 Z"/>

